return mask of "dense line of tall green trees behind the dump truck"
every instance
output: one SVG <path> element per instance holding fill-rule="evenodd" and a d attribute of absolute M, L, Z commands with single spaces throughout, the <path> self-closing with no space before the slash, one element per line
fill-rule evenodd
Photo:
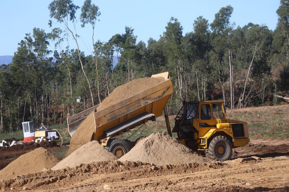
<path fill-rule="evenodd" d="M 278 92 L 288 93 L 286 0 L 276 11 L 274 31 L 263 24 L 236 26 L 230 21 L 233 7 L 228 5 L 212 23 L 197 17 L 193 31 L 186 34 L 178 19 L 171 17 L 160 39 L 149 38 L 147 44 L 137 43 L 129 26 L 106 42 L 95 40 L 101 13 L 91 0 L 81 7 L 71 0 L 53 0 L 48 9 L 51 31 L 35 27 L 18 43 L 12 63 L 1 66 L 0 132 L 19 130 L 22 121 L 37 126 L 65 123 L 68 115 L 99 104 L 117 86 L 165 71 L 174 85 L 167 103 L 171 114 L 178 112 L 183 100 L 223 100 L 229 108 L 242 108 L 272 105 Z M 53 28 L 55 23 L 64 27 Z M 91 29 L 88 55 L 78 45 L 78 24 Z M 49 50 L 51 44 L 54 50 Z"/>

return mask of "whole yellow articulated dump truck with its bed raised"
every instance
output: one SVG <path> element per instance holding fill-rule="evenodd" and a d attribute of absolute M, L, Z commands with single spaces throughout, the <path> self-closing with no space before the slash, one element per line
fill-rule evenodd
<path fill-rule="evenodd" d="M 171 131 L 166 103 L 173 93 L 173 84 L 168 72 L 152 77 L 164 77 L 164 81 L 100 111 L 97 111 L 98 106 L 94 106 L 68 117 L 68 132 L 72 136 L 93 111 L 93 140 L 99 141 L 114 155 L 121 157 L 143 137 L 134 142 L 115 137 L 149 120 L 155 121 L 164 111 L 169 135 L 176 132 L 179 142 L 192 150 L 204 152 L 216 161 L 230 159 L 233 147 L 248 144 L 247 123 L 226 119 L 222 101 L 184 101 Z"/>

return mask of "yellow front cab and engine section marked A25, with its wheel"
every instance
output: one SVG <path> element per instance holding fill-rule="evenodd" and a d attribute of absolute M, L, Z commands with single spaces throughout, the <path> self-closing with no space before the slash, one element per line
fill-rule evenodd
<path fill-rule="evenodd" d="M 223 101 L 183 102 L 175 117 L 179 142 L 216 160 L 228 160 L 232 148 L 250 141 L 246 122 L 226 119 Z"/>

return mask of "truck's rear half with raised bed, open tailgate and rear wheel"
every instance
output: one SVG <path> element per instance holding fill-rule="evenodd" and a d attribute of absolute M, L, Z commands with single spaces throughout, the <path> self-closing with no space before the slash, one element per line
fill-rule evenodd
<path fill-rule="evenodd" d="M 135 142 L 121 140 L 114 136 L 127 132 L 149 120 L 155 121 L 156 117 L 162 115 L 162 111 L 173 93 L 173 84 L 168 72 L 151 77 L 164 77 L 164 81 L 100 111 L 97 111 L 97 105 L 68 117 L 69 134 L 72 136 L 84 119 L 94 111 L 93 140 L 99 141 L 101 145 L 118 157 L 127 153 Z M 169 129 L 168 131 L 170 132 Z"/>

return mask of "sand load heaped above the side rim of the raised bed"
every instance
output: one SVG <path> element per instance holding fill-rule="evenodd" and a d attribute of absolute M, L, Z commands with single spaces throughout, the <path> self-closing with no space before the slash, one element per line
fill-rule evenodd
<path fill-rule="evenodd" d="M 145 91 L 155 85 L 158 85 L 164 81 L 164 77 L 145 77 L 140 79 L 134 79 L 124 85 L 115 88 L 107 98 L 105 98 L 101 104 L 97 107 L 97 111 L 105 109 L 111 105 L 114 105 L 120 101 L 123 101 L 135 94 Z"/>

